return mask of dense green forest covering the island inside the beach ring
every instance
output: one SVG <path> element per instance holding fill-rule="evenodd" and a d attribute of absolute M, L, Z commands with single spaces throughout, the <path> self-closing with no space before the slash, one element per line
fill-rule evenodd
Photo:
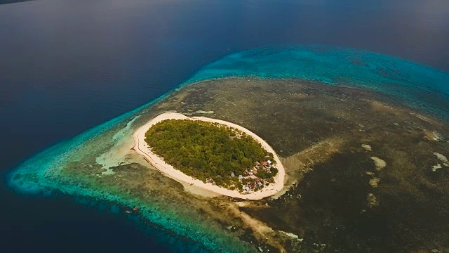
<path fill-rule="evenodd" d="M 237 129 L 222 124 L 166 119 L 145 134 L 152 152 L 189 176 L 219 186 L 239 186 L 237 175 L 245 174 L 258 162 L 274 160 L 260 143 Z M 232 177 L 232 174 L 235 176 Z M 260 179 L 271 179 L 277 169 L 261 171 Z"/>

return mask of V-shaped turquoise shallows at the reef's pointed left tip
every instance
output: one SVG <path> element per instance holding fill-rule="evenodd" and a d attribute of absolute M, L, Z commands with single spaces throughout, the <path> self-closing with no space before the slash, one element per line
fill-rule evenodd
<path fill-rule="evenodd" d="M 173 252 L 253 251 L 253 248 L 245 242 L 239 242 L 227 233 L 220 233 L 220 231 L 210 228 L 206 222 L 201 223 L 197 216 L 192 219 L 186 215 L 177 216 L 178 210 L 164 208 L 157 201 L 153 203 L 152 207 L 146 207 L 136 199 L 107 193 L 100 188 L 86 188 L 83 184 L 79 184 L 79 179 L 68 178 L 60 173 L 60 169 L 69 162 L 79 161 L 78 155 L 82 157 L 86 154 L 100 154 L 101 150 L 112 146 L 112 141 L 121 137 L 128 138 L 126 134 L 130 136 L 135 130 L 135 127 L 130 129 L 126 127 L 128 122 L 145 114 L 151 105 L 163 99 L 167 94 L 34 155 L 8 174 L 8 186 L 18 193 L 27 195 L 50 197 L 54 193 L 64 193 L 74 196 L 74 200 L 81 205 L 98 205 L 100 207 L 105 205 L 105 202 L 110 202 L 123 207 L 140 206 L 140 215 L 145 217 L 151 225 L 145 226 L 146 223 L 139 223 L 137 220 L 136 224 L 149 235 L 156 237 L 159 243 L 170 245 Z M 123 131 L 122 135 L 116 135 L 123 129 L 128 131 Z M 107 138 L 102 146 L 95 145 L 98 138 L 104 138 L 103 135 L 109 135 L 111 138 Z M 116 209 L 112 209 L 111 212 L 116 212 Z"/>

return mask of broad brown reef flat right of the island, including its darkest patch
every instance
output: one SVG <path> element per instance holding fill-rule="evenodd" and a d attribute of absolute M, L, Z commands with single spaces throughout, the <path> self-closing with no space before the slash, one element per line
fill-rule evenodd
<path fill-rule="evenodd" d="M 448 143 L 431 134 L 446 136 L 445 124 L 404 107 L 401 100 L 346 86 L 219 79 L 187 89 L 175 110 L 192 115 L 212 110 L 208 117 L 255 131 L 286 157 L 294 183 L 287 193 L 241 207 L 275 230 L 302 238 L 286 242 L 286 248 L 448 248 L 449 169 L 431 170 L 438 163 L 432 152 L 448 154 Z M 243 90 L 244 97 L 239 95 Z M 380 157 L 387 166 L 376 169 L 371 157 Z"/>

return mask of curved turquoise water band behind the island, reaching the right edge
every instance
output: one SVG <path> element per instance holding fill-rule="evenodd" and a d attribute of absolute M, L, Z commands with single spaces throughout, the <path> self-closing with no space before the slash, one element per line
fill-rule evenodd
<path fill-rule="evenodd" d="M 331 46 L 265 47 L 225 56 L 186 84 L 222 77 L 306 79 L 367 88 L 448 119 L 449 74 L 378 53 Z"/>

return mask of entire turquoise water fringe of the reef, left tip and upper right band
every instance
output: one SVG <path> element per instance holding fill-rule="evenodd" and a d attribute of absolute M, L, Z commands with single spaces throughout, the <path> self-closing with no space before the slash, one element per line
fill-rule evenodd
<path fill-rule="evenodd" d="M 326 46 L 257 48 L 220 58 L 201 68 L 180 86 L 222 77 L 300 79 L 328 85 L 373 89 L 441 119 L 449 118 L 448 73 L 366 51 Z M 52 190 L 58 189 L 67 195 L 91 197 L 98 202 L 107 200 L 121 205 L 139 205 L 136 200 L 120 195 L 83 188 L 77 185 L 74 179 L 69 179 L 59 172 L 65 164 L 79 160 L 81 155 L 100 153 L 101 150 L 109 148 L 113 144 L 112 138 L 102 145 L 93 146 L 92 143 L 104 135 L 114 136 L 117 131 L 125 129 L 130 120 L 148 112 L 156 100 L 34 155 L 11 171 L 8 185 L 21 193 L 51 195 Z M 137 127 L 133 125 L 124 133 L 130 134 Z M 197 243 L 198 248 L 189 247 L 192 252 L 199 249 L 234 252 L 239 247 L 247 246 L 229 245 L 227 240 L 232 239 L 220 240 L 220 236 L 225 236 L 224 234 L 208 231 L 206 224 L 194 223 L 193 219 L 174 217 L 176 214 L 165 213 L 156 204 L 154 207 L 142 209 L 142 214 L 153 224 L 189 238 L 189 243 Z M 167 221 L 168 216 L 174 218 Z M 184 240 L 173 239 L 168 233 L 158 233 L 158 236 L 161 241 L 174 240 L 170 242 L 173 247 L 185 249 L 187 242 Z"/>

